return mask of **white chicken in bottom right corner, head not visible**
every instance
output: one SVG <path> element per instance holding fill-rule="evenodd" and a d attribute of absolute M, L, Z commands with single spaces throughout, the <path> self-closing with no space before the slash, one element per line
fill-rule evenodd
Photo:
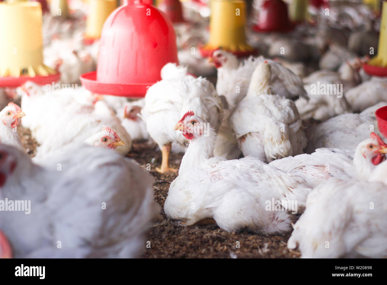
<path fill-rule="evenodd" d="M 308 195 L 288 247 L 303 258 L 386 258 L 386 199 L 380 182 L 330 179 Z"/>

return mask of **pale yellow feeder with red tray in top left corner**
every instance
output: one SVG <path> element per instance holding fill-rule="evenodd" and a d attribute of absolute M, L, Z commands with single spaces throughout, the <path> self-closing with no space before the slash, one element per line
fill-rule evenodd
<path fill-rule="evenodd" d="M 45 85 L 59 78 L 60 73 L 43 64 L 40 3 L 0 3 L 0 87 L 26 81 Z"/>

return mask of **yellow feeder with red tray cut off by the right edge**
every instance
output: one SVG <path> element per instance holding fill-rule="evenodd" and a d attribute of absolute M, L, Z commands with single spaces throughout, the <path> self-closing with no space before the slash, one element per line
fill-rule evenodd
<path fill-rule="evenodd" d="M 375 76 L 387 76 L 387 2 L 383 2 L 382 21 L 378 43 L 378 54 L 363 64 L 366 73 Z"/>

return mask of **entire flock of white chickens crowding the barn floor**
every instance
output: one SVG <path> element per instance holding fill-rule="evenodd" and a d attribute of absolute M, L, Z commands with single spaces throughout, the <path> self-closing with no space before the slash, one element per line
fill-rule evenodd
<path fill-rule="evenodd" d="M 175 27 L 180 65 L 166 64 L 140 100 L 76 85 L 0 90 L 0 200 L 31 201 L 30 214 L 0 215 L 13 256 L 140 256 L 160 207 L 152 176 L 125 155 L 132 140 L 153 140 L 162 152 L 156 170 L 178 172 L 164 212 L 181 225 L 263 235 L 293 228 L 288 247 L 302 257 L 387 257 L 387 140 L 375 119 L 387 105 L 387 79 L 364 73 L 369 49 L 356 41 L 371 37 L 377 21 L 362 26 L 372 18 L 363 6 L 336 12 L 291 34 L 249 35 L 259 57 L 219 49 L 208 62 L 188 56 L 208 33 L 193 13 Z M 82 24 L 44 22 L 46 60 L 62 71 L 61 83 L 77 83 L 95 68 L 98 43 L 76 44 Z M 216 86 L 194 75 L 213 66 Z M 342 89 L 316 93 L 315 85 Z M 20 125 L 39 143 L 32 159 Z M 171 152 L 185 153 L 179 169 Z"/>

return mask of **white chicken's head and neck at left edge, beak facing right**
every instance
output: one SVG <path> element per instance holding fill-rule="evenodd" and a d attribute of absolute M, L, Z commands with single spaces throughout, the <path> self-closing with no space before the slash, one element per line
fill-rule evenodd
<path fill-rule="evenodd" d="M 23 149 L 20 136 L 17 133 L 17 127 L 21 123 L 21 118 L 26 116 L 18 105 L 9 102 L 7 106 L 0 112 L 0 140 L 2 143 L 14 145 L 19 149 Z"/>

